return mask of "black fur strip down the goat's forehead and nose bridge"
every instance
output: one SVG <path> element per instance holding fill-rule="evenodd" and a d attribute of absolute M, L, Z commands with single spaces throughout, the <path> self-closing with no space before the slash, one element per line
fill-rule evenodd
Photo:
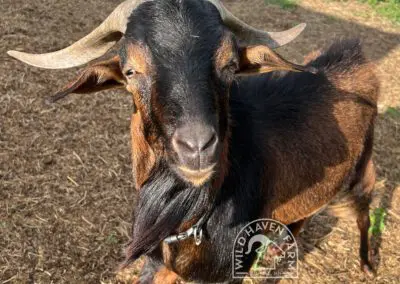
<path fill-rule="evenodd" d="M 213 125 L 219 132 L 210 58 L 223 31 L 217 9 L 207 1 L 150 1 L 132 14 L 126 38 L 145 44 L 151 51 L 157 105 L 163 121 L 169 122 L 159 124 L 165 136 L 192 120 Z M 152 105 L 150 99 L 151 94 L 145 96 L 145 105 Z"/>

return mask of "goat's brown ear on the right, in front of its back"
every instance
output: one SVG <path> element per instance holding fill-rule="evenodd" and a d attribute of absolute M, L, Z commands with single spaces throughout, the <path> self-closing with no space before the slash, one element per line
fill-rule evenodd
<path fill-rule="evenodd" d="M 240 48 L 239 57 L 238 75 L 261 74 L 276 70 L 316 73 L 315 68 L 291 63 L 264 45 Z"/>

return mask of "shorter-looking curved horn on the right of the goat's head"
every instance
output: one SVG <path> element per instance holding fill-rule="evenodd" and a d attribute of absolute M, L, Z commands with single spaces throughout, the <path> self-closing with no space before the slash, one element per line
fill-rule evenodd
<path fill-rule="evenodd" d="M 249 45 L 264 44 L 274 49 L 294 40 L 305 29 L 306 24 L 299 24 L 283 32 L 265 32 L 253 28 L 236 18 L 220 0 L 207 0 L 218 9 L 225 25 L 229 27 L 241 40 Z"/>

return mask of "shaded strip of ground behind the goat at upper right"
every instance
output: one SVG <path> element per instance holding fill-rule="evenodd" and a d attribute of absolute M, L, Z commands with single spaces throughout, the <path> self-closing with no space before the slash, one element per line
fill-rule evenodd
<path fill-rule="evenodd" d="M 307 52 L 321 48 L 337 38 L 361 38 L 367 56 L 380 60 L 400 45 L 400 34 L 384 32 L 381 29 L 347 21 L 323 12 L 305 9 L 292 3 L 290 9 L 278 5 L 266 5 L 263 1 L 223 1 L 235 14 L 246 22 L 266 30 L 277 31 L 290 28 L 298 23 L 307 23 L 303 35 L 284 47 L 301 60 Z M 250 9 L 251 6 L 254 6 Z M 258 11 L 255 13 L 255 11 Z M 356 12 L 356 11 L 355 11 Z M 361 13 L 361 12 L 360 12 Z"/>

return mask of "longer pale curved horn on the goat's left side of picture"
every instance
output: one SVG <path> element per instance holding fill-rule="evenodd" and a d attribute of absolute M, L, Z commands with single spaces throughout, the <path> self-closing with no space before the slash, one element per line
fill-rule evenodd
<path fill-rule="evenodd" d="M 127 0 L 121 3 L 90 34 L 71 46 L 59 51 L 45 54 L 30 54 L 19 51 L 8 51 L 8 55 L 41 68 L 64 69 L 80 66 L 104 55 L 126 31 L 132 11 L 146 0 Z"/>

